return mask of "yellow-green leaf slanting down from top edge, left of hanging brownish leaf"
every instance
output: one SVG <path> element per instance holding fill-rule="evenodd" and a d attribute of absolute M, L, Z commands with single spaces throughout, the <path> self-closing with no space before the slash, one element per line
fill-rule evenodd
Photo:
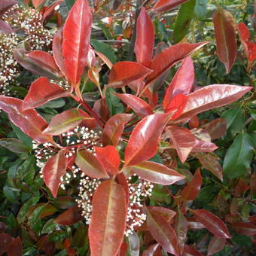
<path fill-rule="evenodd" d="M 175 26 L 173 31 L 173 41 L 177 44 L 187 34 L 187 30 L 190 26 L 194 14 L 194 7 L 196 0 L 190 0 L 181 5 L 178 10 L 178 16 L 175 20 Z"/>

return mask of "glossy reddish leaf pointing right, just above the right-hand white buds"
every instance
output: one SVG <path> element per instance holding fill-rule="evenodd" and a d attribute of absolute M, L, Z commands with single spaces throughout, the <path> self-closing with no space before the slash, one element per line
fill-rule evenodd
<path fill-rule="evenodd" d="M 123 171 L 131 170 L 146 181 L 157 184 L 170 185 L 184 179 L 184 175 L 179 174 L 173 169 L 169 169 L 160 163 L 145 161 L 133 164 L 133 166 L 125 166 Z"/>

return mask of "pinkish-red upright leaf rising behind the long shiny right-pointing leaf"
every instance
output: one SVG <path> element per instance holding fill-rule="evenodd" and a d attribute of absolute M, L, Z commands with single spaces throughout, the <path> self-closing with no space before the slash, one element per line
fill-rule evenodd
<path fill-rule="evenodd" d="M 190 92 L 192 84 L 194 82 L 194 66 L 191 57 L 183 59 L 181 66 L 175 73 L 174 78 L 172 78 L 169 84 L 166 94 L 163 99 L 163 109 L 168 108 L 169 102 L 177 94 L 187 94 Z"/>

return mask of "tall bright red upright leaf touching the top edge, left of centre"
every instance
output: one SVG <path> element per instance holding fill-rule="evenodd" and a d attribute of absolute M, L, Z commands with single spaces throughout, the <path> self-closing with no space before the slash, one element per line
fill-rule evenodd
<path fill-rule="evenodd" d="M 66 76 L 73 86 L 80 83 L 90 45 L 92 14 L 87 0 L 73 5 L 63 27 L 62 53 Z"/>

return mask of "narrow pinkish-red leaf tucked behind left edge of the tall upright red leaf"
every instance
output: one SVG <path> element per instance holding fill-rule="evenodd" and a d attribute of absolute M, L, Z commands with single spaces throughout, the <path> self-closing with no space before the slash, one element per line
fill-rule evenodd
<path fill-rule="evenodd" d="M 62 74 L 66 76 L 66 67 L 64 64 L 64 58 L 62 54 L 62 42 L 62 29 L 59 29 L 53 38 L 53 57 L 55 59 L 56 65 L 59 67 Z"/>

